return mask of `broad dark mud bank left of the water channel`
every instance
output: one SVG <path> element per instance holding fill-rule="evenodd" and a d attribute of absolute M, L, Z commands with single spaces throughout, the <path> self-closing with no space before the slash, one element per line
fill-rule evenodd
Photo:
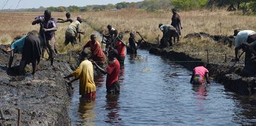
<path fill-rule="evenodd" d="M 58 54 L 54 67 L 50 67 L 50 61 L 41 60 L 34 76 L 30 74 L 31 65 L 27 65 L 26 75 L 18 76 L 15 65 L 19 65 L 21 57 L 15 54 L 14 67 L 7 70 L 10 55 L 5 49 L 5 45 L 0 45 L 0 108 L 4 114 L 4 118 L 0 116 L 0 125 L 17 125 L 17 108 L 21 112 L 20 125 L 71 125 L 71 92 L 63 79 L 75 67 L 68 63 L 69 54 Z"/>

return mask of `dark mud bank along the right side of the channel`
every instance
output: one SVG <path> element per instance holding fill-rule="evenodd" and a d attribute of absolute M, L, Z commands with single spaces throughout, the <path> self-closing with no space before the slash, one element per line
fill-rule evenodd
<path fill-rule="evenodd" d="M 191 71 L 202 62 L 202 59 L 190 57 L 184 52 L 175 52 L 170 48 L 159 49 L 156 44 L 145 43 L 141 49 L 148 49 L 151 54 L 177 61 L 178 64 Z M 237 66 L 232 68 L 232 63 L 207 63 L 206 67 L 210 71 L 210 76 L 214 77 L 214 80 L 218 81 L 218 83 L 222 83 L 227 90 L 241 95 L 256 94 L 256 78 L 242 77 L 236 74 Z"/>

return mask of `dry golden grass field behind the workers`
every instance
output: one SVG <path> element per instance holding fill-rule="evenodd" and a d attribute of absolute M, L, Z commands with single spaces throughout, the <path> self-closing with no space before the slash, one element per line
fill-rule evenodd
<path fill-rule="evenodd" d="M 0 43 L 10 44 L 13 37 L 28 33 L 31 30 L 38 30 L 39 25 L 32 26 L 31 22 L 36 16 L 42 13 L 0 13 Z M 111 24 L 113 28 L 125 33 L 124 41 L 128 42 L 129 32 L 140 31 L 145 40 L 156 43 L 157 36 L 162 36 L 158 29 L 158 24 L 170 24 L 171 12 L 145 12 L 143 10 L 120 10 L 120 11 L 103 11 L 103 12 L 86 12 L 71 13 L 75 19 L 77 15 L 82 15 L 86 23 L 82 23 L 82 29 L 86 32 L 82 36 L 82 43 L 74 48 L 71 45 L 65 47 L 65 29 L 69 23 L 58 24 L 56 31 L 56 42 L 60 52 L 67 52 L 70 49 L 81 49 L 81 45 L 88 42 L 89 36 L 93 31 L 107 33 L 106 26 Z M 233 35 L 235 28 L 256 29 L 254 16 L 236 15 L 235 12 L 225 12 L 224 10 L 209 10 L 179 12 L 182 20 L 182 37 L 188 33 L 205 32 L 211 35 Z M 65 19 L 65 13 L 52 13 L 52 17 Z M 159 39 L 160 39 L 159 38 Z M 139 39 L 137 36 L 136 39 Z M 100 38 L 97 38 L 100 42 Z M 227 54 L 228 58 L 234 57 L 234 47 L 229 48 L 222 43 L 212 42 L 207 38 L 202 39 L 181 39 L 179 49 L 177 51 L 188 52 L 199 58 L 205 58 L 205 49 L 209 49 L 210 54 L 214 58 L 223 58 L 223 54 Z M 217 56 L 220 55 L 220 56 Z M 222 60 L 222 59 L 221 59 Z"/>

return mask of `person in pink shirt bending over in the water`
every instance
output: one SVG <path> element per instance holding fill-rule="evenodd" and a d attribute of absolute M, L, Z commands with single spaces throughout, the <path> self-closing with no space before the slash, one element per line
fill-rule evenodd
<path fill-rule="evenodd" d="M 193 69 L 193 74 L 191 75 L 190 83 L 193 84 L 205 84 L 205 79 L 207 84 L 210 84 L 209 71 L 202 65 L 195 67 Z"/>

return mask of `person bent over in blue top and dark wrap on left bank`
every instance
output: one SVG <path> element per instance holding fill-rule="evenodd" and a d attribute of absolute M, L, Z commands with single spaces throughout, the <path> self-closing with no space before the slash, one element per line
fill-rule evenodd
<path fill-rule="evenodd" d="M 23 74 L 26 65 L 32 63 L 32 74 L 35 74 L 36 61 L 39 63 L 42 55 L 40 40 L 37 36 L 37 31 L 29 31 L 28 35 L 23 36 L 11 44 L 11 47 L 7 49 L 7 51 L 10 51 L 8 70 L 12 67 L 14 53 L 20 52 L 22 53 L 22 58 L 20 60 L 19 73 Z"/>

